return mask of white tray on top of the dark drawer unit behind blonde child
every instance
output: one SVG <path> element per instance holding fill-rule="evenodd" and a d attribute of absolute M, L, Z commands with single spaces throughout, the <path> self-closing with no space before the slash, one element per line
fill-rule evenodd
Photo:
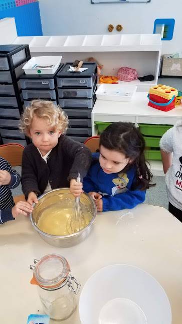
<path fill-rule="evenodd" d="M 62 56 L 32 57 L 23 67 L 25 74 L 54 74 L 59 68 Z M 46 68 L 50 66 L 50 68 Z M 52 67 L 51 67 L 52 66 Z"/>

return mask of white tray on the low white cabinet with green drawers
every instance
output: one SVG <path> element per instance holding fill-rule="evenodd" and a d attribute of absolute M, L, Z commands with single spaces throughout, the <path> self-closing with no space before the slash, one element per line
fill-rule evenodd
<path fill-rule="evenodd" d="M 136 89 L 134 85 L 101 84 L 95 94 L 101 100 L 131 101 Z"/>

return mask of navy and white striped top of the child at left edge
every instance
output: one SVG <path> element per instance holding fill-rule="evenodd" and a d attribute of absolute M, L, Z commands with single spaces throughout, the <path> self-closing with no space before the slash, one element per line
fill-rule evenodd
<path fill-rule="evenodd" d="M 20 175 L 12 169 L 10 163 L 0 156 L 0 170 L 8 171 L 12 181 L 8 186 L 0 186 L 0 225 L 14 220 L 12 207 L 15 205 L 12 192 L 10 189 L 18 187 L 20 184 Z"/>

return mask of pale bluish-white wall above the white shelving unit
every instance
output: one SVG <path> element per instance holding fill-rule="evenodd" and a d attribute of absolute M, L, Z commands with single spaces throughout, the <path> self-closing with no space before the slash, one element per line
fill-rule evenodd
<path fill-rule="evenodd" d="M 150 3 L 92 5 L 91 0 L 39 0 L 43 35 L 108 34 L 108 25 L 121 24 L 123 34 L 151 34 L 155 19 L 175 19 L 171 41 L 162 41 L 162 53 L 181 50 L 181 0 L 167 4 L 164 0 Z M 112 34 L 118 34 L 116 29 Z"/>

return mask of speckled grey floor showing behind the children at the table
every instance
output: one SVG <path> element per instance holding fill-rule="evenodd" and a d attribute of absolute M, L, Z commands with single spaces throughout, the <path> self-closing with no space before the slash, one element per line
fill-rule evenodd
<path fill-rule="evenodd" d="M 21 175 L 21 167 L 14 167 L 14 169 Z M 152 183 L 156 183 L 156 186 L 146 191 L 144 203 L 168 209 L 164 177 L 153 177 Z M 22 186 L 12 189 L 12 195 L 13 197 L 23 195 Z"/>

